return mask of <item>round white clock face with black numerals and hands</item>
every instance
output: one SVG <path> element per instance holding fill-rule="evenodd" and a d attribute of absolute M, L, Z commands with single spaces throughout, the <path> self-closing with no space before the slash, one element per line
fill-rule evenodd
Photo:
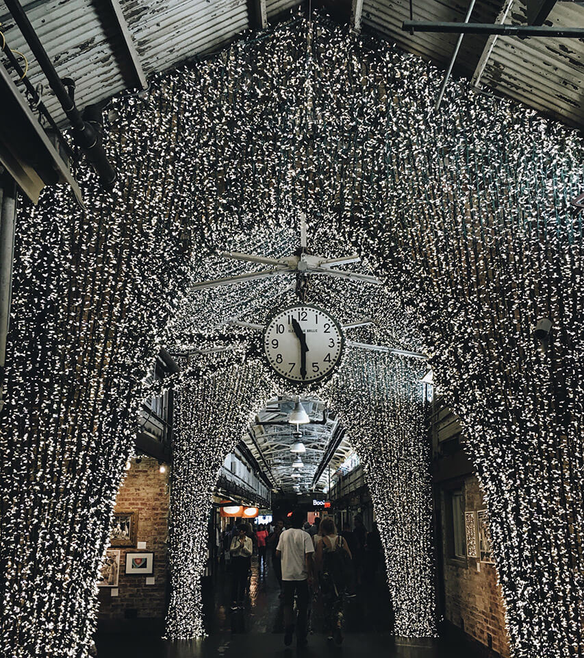
<path fill-rule="evenodd" d="M 340 361 L 343 345 L 338 322 L 309 304 L 279 310 L 264 331 L 268 363 L 277 374 L 297 383 L 329 376 Z"/>

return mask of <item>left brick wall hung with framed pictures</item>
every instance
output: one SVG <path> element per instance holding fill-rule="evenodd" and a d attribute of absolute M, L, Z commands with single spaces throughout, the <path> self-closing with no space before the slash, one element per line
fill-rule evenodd
<path fill-rule="evenodd" d="M 146 548 L 120 548 L 118 596 L 109 587 L 99 592 L 99 619 L 123 620 L 149 618 L 160 620 L 166 614 L 166 540 L 168 535 L 168 467 L 159 472 L 155 459 L 143 457 L 131 469 L 120 487 L 116 511 L 138 511 L 137 541 Z M 114 546 L 112 547 L 117 550 Z M 125 555 L 136 551 L 154 552 L 154 584 L 146 584 L 146 576 L 125 575 Z"/>

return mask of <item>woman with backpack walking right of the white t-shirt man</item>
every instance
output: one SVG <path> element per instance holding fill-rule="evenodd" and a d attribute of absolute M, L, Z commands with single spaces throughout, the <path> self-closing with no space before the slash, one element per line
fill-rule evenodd
<path fill-rule="evenodd" d="M 320 574 L 322 605 L 329 639 L 336 644 L 343 641 L 343 596 L 351 579 L 351 550 L 337 534 L 335 522 L 325 517 L 320 522 L 320 539 L 316 544 L 316 568 Z"/>

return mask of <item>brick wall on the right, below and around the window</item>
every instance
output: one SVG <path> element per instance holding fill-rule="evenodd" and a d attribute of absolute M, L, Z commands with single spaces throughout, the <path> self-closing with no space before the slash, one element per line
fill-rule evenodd
<path fill-rule="evenodd" d="M 466 511 L 485 509 L 476 477 L 467 477 L 463 489 Z M 445 532 L 443 536 L 446 537 Z M 448 555 L 446 542 L 444 555 Z M 477 570 L 477 564 L 480 571 Z M 472 557 L 467 557 L 466 561 L 445 557 L 444 594 L 444 616 L 448 621 L 464 627 L 468 635 L 481 644 L 492 646 L 492 650 L 499 655 L 505 658 L 509 656 L 505 608 L 494 565 L 479 562 L 479 559 Z"/>

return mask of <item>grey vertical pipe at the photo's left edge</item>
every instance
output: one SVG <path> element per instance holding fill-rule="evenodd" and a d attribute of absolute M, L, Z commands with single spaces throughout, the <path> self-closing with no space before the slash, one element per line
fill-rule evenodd
<path fill-rule="evenodd" d="M 0 186 L 0 413 L 4 407 L 6 341 L 10 328 L 16 194 L 16 183 L 8 173 L 4 173 Z"/>

